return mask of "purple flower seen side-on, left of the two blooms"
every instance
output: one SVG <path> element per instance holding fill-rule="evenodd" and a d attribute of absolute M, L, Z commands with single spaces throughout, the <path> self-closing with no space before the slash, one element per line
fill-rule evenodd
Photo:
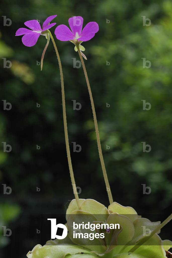
<path fill-rule="evenodd" d="M 20 28 L 16 31 L 15 36 L 24 35 L 22 37 L 23 44 L 27 47 L 32 47 L 36 44 L 40 35 L 46 35 L 46 33 L 43 33 L 45 30 L 48 30 L 51 27 L 53 27 L 54 25 L 56 25 L 56 23 L 49 24 L 56 16 L 57 15 L 52 15 L 52 16 L 49 16 L 48 18 L 46 18 L 46 20 L 44 21 L 44 23 L 42 25 L 42 29 L 37 20 L 26 21 L 24 23 L 24 25 L 26 25 L 31 30 L 28 30 L 26 28 Z"/>

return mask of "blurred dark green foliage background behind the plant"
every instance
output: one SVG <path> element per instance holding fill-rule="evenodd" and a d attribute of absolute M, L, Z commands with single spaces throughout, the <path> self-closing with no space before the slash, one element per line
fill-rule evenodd
<path fill-rule="evenodd" d="M 27 20 L 42 24 L 58 14 L 53 22 L 68 26 L 71 16 L 80 15 L 83 26 L 90 21 L 99 24 L 95 37 L 82 45 L 114 201 L 148 218 L 158 214 L 165 219 L 172 204 L 172 2 L 4 0 L 0 14 L 0 220 L 13 232 L 3 237 L 0 228 L 2 257 L 26 257 L 38 244 L 36 218 L 64 214 L 73 199 L 56 55 L 50 42 L 40 71 L 45 37 L 33 47 L 25 47 L 21 37 L 15 37 Z M 2 16 L 11 19 L 11 26 L 3 26 Z M 150 26 L 143 26 L 142 16 L 151 19 Z M 108 206 L 85 77 L 82 67 L 73 68 L 72 58 L 79 60 L 78 53 L 71 42 L 55 41 L 63 67 L 79 197 Z M 3 68 L 2 58 L 10 60 L 12 67 Z M 149 69 L 143 68 L 142 58 L 151 61 Z M 10 102 L 12 109 L 3 110 L 2 100 Z M 81 110 L 73 110 L 72 100 L 81 103 Z M 150 110 L 143 110 L 142 100 L 151 103 Z M 3 152 L 2 142 L 10 144 L 12 151 Z M 72 142 L 81 145 L 81 152 L 73 152 Z M 142 142 L 151 146 L 150 152 L 143 152 Z M 12 188 L 10 195 L 3 194 L 2 184 Z M 149 195 L 143 194 L 142 184 L 151 188 Z M 161 237 L 171 239 L 170 230 L 168 224 Z"/>

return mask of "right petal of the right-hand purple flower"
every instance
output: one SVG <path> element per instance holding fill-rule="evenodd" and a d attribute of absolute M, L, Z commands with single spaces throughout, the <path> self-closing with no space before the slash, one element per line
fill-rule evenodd
<path fill-rule="evenodd" d="M 79 41 L 88 41 L 94 37 L 95 33 L 98 32 L 99 25 L 97 22 L 91 21 L 83 28 Z"/>

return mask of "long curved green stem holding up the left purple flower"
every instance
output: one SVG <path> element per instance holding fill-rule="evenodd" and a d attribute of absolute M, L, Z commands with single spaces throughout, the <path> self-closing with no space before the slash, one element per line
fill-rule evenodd
<path fill-rule="evenodd" d="M 54 38 L 51 34 L 51 32 L 48 30 L 48 33 L 52 39 L 53 45 L 54 45 L 54 49 L 57 55 L 57 59 L 59 62 L 59 68 L 60 68 L 60 78 L 61 78 L 61 88 L 62 88 L 62 108 L 63 108 L 63 122 L 64 122 L 64 135 L 65 135 L 65 142 L 66 142 L 66 151 L 67 151 L 67 157 L 68 157 L 68 164 L 69 164 L 69 172 L 70 172 L 70 177 L 71 177 L 71 181 L 72 181 L 72 187 L 73 187 L 73 192 L 74 192 L 74 196 L 79 208 L 79 197 L 78 197 L 78 192 L 77 192 L 77 188 L 76 188 L 76 184 L 75 184 L 75 179 L 74 179 L 74 174 L 73 174 L 73 168 L 72 168 L 72 162 L 71 162 L 71 155 L 70 155 L 70 148 L 69 148 L 69 138 L 68 138 L 68 127 L 67 127 L 67 120 L 66 120 L 66 105 L 65 105 L 65 95 L 64 95 L 64 82 L 63 82 L 63 72 L 62 72 L 62 65 L 61 65 L 61 61 L 60 61 L 60 56 L 59 56 L 59 52 L 57 50 Z"/>

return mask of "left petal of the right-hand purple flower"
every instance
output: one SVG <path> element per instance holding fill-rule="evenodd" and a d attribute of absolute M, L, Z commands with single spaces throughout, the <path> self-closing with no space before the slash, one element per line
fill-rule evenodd
<path fill-rule="evenodd" d="M 54 31 L 57 39 L 61 41 L 68 41 L 73 39 L 72 31 L 66 25 L 59 25 Z"/>

